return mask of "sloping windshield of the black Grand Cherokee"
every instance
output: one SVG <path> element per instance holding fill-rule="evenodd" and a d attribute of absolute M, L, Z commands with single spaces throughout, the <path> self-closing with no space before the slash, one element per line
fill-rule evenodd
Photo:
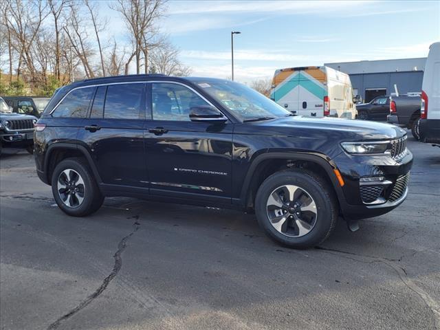
<path fill-rule="evenodd" d="M 254 89 L 228 80 L 198 80 L 195 83 L 242 121 L 265 120 L 291 115 Z"/>

